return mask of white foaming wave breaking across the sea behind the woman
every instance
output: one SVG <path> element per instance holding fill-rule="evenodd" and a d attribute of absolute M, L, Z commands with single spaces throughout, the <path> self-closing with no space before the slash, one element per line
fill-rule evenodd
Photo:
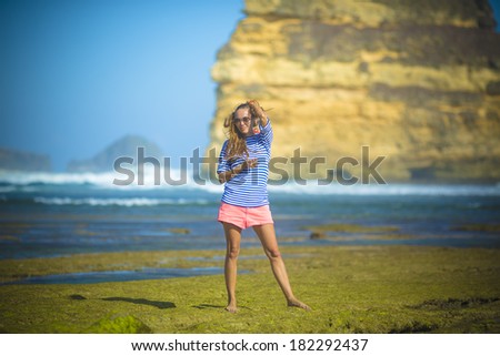
<path fill-rule="evenodd" d="M 168 184 L 153 172 L 147 172 L 142 184 L 133 182 L 129 185 L 117 185 L 114 180 L 123 180 L 117 172 L 104 173 L 26 173 L 26 172 L 0 172 L 0 193 L 10 193 L 14 191 L 37 192 L 47 185 L 87 185 L 91 189 L 100 190 L 174 190 L 174 191 L 202 191 L 207 193 L 222 193 L 223 186 L 210 180 L 200 180 L 193 177 L 191 172 L 181 172 L 172 170 L 171 180 L 181 182 L 174 185 Z M 279 183 L 270 182 L 269 192 L 277 194 L 310 194 L 310 195 L 447 195 L 447 196 L 500 196 L 500 184 L 480 185 L 480 184 L 354 184 L 341 185 L 331 183 L 329 185 L 319 185 L 318 181 L 307 181 L 303 184 L 291 181 Z M 54 201 L 56 202 L 56 201 Z M 57 204 L 52 202 L 53 204 Z M 63 201 L 64 202 L 64 201 Z M 111 204 L 116 204 L 112 202 Z M 120 202 L 118 202 L 120 203 Z M 151 204 L 169 204 L 168 200 L 151 201 Z M 106 202 L 80 202 L 76 204 L 106 204 Z M 129 204 L 129 203 L 127 203 Z M 130 202 L 130 204 L 136 204 Z M 140 204 L 148 204 L 147 201 Z"/>

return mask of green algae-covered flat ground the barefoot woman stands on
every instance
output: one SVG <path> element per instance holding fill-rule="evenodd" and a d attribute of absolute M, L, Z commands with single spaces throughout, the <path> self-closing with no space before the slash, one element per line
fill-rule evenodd
<path fill-rule="evenodd" d="M 500 250 L 414 246 L 282 247 L 290 308 L 269 263 L 240 258 L 239 313 L 224 312 L 222 275 L 83 285 L 0 286 L 3 333 L 500 333 Z M 261 254 L 251 248 L 243 256 Z M 129 266 L 221 266 L 217 251 L 0 261 L 0 273 Z M 203 257 L 191 261 L 189 257 Z M 121 267 L 121 266 L 120 266 Z M 40 268 L 37 271 L 37 268 Z M 2 275 L 3 278 L 7 278 Z"/>

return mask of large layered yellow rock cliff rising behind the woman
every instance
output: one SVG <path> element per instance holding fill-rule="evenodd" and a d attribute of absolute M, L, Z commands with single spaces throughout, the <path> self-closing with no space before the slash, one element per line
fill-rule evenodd
<path fill-rule="evenodd" d="M 272 108 L 272 155 L 326 157 L 316 176 L 346 156 L 360 174 L 369 146 L 364 164 L 384 156 L 387 181 L 500 179 L 500 34 L 487 0 L 247 0 L 244 13 L 212 68 L 211 146 L 224 116 L 257 99 Z"/>

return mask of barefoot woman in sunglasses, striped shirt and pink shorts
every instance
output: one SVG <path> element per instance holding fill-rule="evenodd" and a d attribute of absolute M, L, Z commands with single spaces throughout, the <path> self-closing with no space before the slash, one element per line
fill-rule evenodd
<path fill-rule="evenodd" d="M 222 145 L 217 173 L 219 181 L 226 183 L 218 217 L 227 242 L 226 309 L 237 312 L 237 260 L 241 231 L 251 226 L 259 236 L 288 305 L 309 311 L 310 307 L 297 299 L 290 287 L 269 208 L 267 181 L 272 142 L 271 122 L 259 103 L 252 100 L 240 104 L 226 119 L 224 126 L 229 128 L 229 140 Z"/>

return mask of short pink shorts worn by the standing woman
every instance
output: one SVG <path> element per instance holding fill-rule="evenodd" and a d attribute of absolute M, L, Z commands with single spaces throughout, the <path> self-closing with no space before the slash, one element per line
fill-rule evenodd
<path fill-rule="evenodd" d="M 273 224 L 271 210 L 269 205 L 258 207 L 243 207 L 222 203 L 219 208 L 221 223 L 230 223 L 240 228 L 247 228 L 254 225 Z"/>

